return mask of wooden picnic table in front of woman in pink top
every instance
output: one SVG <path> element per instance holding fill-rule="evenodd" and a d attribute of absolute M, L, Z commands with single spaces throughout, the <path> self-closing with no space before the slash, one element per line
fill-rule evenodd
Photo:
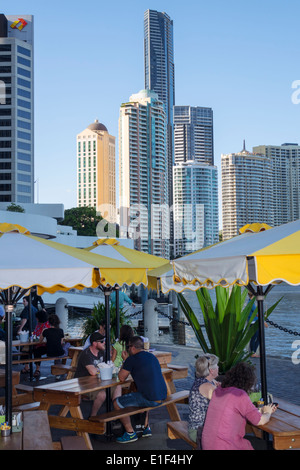
<path fill-rule="evenodd" d="M 274 398 L 274 402 L 278 408 L 270 421 L 263 426 L 251 425 L 254 434 L 257 437 L 262 437 L 262 431 L 271 434 L 276 450 L 300 448 L 300 406 L 281 398 Z"/>

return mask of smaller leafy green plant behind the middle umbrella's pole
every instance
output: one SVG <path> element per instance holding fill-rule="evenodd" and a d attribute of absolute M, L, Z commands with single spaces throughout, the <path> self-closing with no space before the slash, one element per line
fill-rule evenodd
<path fill-rule="evenodd" d="M 130 320 L 125 316 L 125 312 L 122 308 L 119 309 L 120 312 L 120 327 L 125 324 L 130 325 Z M 83 330 L 83 341 L 86 340 L 90 334 L 99 329 L 100 322 L 105 320 L 105 305 L 101 302 L 94 305 L 92 314 L 88 316 L 82 325 Z M 111 341 L 116 339 L 116 308 L 110 306 L 110 337 Z"/>

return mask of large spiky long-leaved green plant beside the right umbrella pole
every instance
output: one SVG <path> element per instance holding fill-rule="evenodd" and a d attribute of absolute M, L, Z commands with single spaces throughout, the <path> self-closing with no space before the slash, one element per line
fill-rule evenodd
<path fill-rule="evenodd" d="M 247 345 L 258 328 L 258 322 L 250 328 L 252 320 L 257 315 L 257 307 L 248 318 L 255 298 L 245 305 L 247 292 L 247 289 L 237 285 L 231 288 L 217 286 L 214 306 L 209 289 L 201 288 L 196 291 L 207 339 L 191 306 L 183 294 L 178 294 L 180 307 L 193 328 L 203 352 L 219 357 L 220 374 L 224 374 L 238 362 L 248 360 L 251 355 Z M 267 309 L 265 318 L 272 313 L 280 300 Z"/>

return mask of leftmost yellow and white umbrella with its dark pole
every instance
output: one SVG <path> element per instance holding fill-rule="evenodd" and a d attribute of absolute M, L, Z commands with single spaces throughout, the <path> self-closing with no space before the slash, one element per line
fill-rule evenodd
<path fill-rule="evenodd" d="M 0 297 L 6 311 L 6 410 L 11 422 L 12 311 L 18 300 L 33 286 L 42 294 L 148 281 L 145 268 L 137 266 L 129 273 L 124 261 L 36 237 L 8 223 L 0 224 L 0 260 Z"/>

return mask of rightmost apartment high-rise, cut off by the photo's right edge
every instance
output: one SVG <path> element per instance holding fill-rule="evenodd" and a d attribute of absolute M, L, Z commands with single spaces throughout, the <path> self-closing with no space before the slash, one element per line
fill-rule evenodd
<path fill-rule="evenodd" d="M 259 145 L 253 152 L 272 162 L 274 225 L 300 219 L 300 147 L 298 144 Z"/>

